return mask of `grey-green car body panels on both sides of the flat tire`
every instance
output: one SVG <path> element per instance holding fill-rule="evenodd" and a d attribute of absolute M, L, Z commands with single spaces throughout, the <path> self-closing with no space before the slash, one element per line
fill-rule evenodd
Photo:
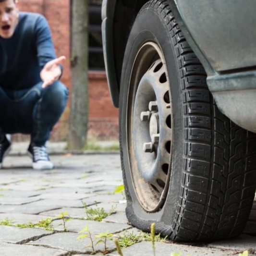
<path fill-rule="evenodd" d="M 221 112 L 256 131 L 256 2 L 169 0 L 181 30 L 207 72 Z M 103 0 L 102 32 L 110 93 L 119 105 L 122 58 L 131 26 L 146 0 Z"/>

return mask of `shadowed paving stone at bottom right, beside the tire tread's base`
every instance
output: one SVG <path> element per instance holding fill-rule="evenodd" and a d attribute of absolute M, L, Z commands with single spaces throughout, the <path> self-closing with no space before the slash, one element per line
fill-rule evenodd
<path fill-rule="evenodd" d="M 210 248 L 230 249 L 237 251 L 256 251 L 256 238 L 249 235 L 241 235 L 238 238 L 227 239 L 223 241 L 208 244 Z"/>

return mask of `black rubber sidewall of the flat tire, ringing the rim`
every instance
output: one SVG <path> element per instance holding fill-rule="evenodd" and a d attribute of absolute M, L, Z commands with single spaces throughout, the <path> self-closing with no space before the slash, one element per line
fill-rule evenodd
<path fill-rule="evenodd" d="M 171 26 L 170 26 L 171 27 Z M 122 67 L 121 92 L 120 92 L 120 131 L 122 144 L 122 164 L 125 169 L 123 173 L 126 196 L 127 196 L 127 217 L 136 226 L 148 230 L 150 221 L 161 221 L 170 226 L 175 218 L 178 203 L 183 159 L 183 119 L 182 119 L 182 97 L 180 79 L 178 72 L 178 61 L 175 57 L 173 38 L 169 33 L 170 27 L 165 24 L 164 17 L 156 10 L 145 9 L 137 16 L 131 30 Z M 156 213 L 146 212 L 138 202 L 132 185 L 132 176 L 129 164 L 129 149 L 127 144 L 127 102 L 131 88 L 130 75 L 138 50 L 147 41 L 153 41 L 162 49 L 171 88 L 171 101 L 173 109 L 174 141 L 172 141 L 173 153 L 171 163 L 171 179 L 169 191 L 164 207 Z M 175 148 L 175 149 L 174 149 Z M 130 184 L 128 186 L 128 184 Z M 135 219 L 134 219 L 135 218 Z M 138 219 L 136 219 L 138 218 Z M 139 221 L 142 223 L 140 224 Z M 147 226 L 147 227 L 146 227 Z M 172 229 L 172 228 L 171 228 Z"/>

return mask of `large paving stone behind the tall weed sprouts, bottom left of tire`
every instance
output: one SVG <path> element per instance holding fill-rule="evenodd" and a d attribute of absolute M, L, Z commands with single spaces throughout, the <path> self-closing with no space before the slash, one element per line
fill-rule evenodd
<path fill-rule="evenodd" d="M 86 245 L 91 244 L 89 238 L 77 239 L 80 234 L 71 233 L 71 232 L 62 232 L 56 233 L 50 236 L 45 236 L 37 241 L 30 242 L 29 244 L 35 245 L 44 245 L 55 249 L 66 250 L 69 252 L 76 252 L 79 253 L 92 253 L 91 247 L 86 247 Z M 107 241 L 107 247 L 109 250 L 115 249 L 115 244 L 113 241 Z M 104 251 L 104 244 L 97 244 L 95 242 L 95 250 L 96 251 Z"/>

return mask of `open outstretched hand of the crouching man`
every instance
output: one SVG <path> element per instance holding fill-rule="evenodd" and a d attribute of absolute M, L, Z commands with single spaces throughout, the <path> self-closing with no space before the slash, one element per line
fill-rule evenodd
<path fill-rule="evenodd" d="M 59 79 L 61 76 L 61 68 L 59 64 L 66 59 L 65 56 L 49 61 L 42 69 L 40 76 L 43 81 L 42 87 L 45 88 Z"/>

